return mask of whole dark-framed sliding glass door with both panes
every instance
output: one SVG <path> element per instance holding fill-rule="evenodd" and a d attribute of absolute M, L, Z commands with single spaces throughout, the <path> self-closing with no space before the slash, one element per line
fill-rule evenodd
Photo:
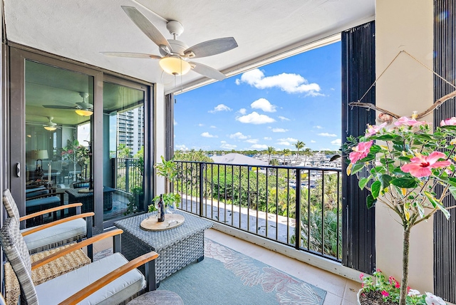
<path fill-rule="evenodd" d="M 62 198 L 52 205 L 82 202 L 83 212 L 95 212 L 95 232 L 145 211 L 150 86 L 16 48 L 10 54 L 10 181 L 20 213 L 34 212 L 27 201 L 46 192 Z"/>

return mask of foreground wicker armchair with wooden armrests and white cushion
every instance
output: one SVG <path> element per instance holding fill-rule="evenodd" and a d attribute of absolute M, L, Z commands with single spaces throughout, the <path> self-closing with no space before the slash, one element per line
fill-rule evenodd
<path fill-rule="evenodd" d="M 21 304 L 125 304 L 133 299 L 146 288 L 145 278 L 136 268 L 152 261 L 146 269 L 149 273 L 155 272 L 153 259 L 158 257 L 155 252 L 144 254 L 131 262 L 117 252 L 37 286 L 31 279 L 33 269 L 56 257 L 122 232 L 121 229 L 105 232 L 31 264 L 18 222 L 14 218 L 6 219 L 0 229 L 0 242 L 19 279 Z"/>

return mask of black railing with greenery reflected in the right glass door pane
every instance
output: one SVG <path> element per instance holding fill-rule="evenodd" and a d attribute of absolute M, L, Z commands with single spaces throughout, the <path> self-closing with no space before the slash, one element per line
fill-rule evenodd
<path fill-rule="evenodd" d="M 140 160 L 131 157 L 113 158 L 113 186 L 117 190 L 132 192 L 133 188 L 142 188 L 142 172 Z"/>

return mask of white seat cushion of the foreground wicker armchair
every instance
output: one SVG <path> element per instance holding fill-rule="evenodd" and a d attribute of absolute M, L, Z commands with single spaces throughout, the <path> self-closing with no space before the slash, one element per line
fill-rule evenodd
<path fill-rule="evenodd" d="M 88 264 L 67 274 L 35 286 L 40 304 L 59 304 L 109 272 L 128 262 L 120 253 L 115 253 L 97 262 Z M 145 287 L 145 279 L 134 269 L 104 286 L 81 301 L 81 304 L 119 304 Z"/>

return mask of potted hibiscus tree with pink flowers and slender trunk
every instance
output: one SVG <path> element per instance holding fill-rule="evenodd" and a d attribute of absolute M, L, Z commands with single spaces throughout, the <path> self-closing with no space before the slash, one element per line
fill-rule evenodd
<path fill-rule="evenodd" d="M 433 133 L 430 123 L 416 120 L 415 113 L 399 118 L 394 128 L 386 124 L 368 125 L 365 135 L 348 137 L 343 151 L 350 160 L 347 174 L 356 175 L 359 187 L 371 191 L 367 207 L 381 202 L 400 219 L 403 270 L 400 284 L 395 283 L 400 293 L 391 301 L 405 305 L 410 230 L 436 212 L 449 218 L 452 207 L 442 200 L 456 198 L 456 118 L 442 120 Z"/>

